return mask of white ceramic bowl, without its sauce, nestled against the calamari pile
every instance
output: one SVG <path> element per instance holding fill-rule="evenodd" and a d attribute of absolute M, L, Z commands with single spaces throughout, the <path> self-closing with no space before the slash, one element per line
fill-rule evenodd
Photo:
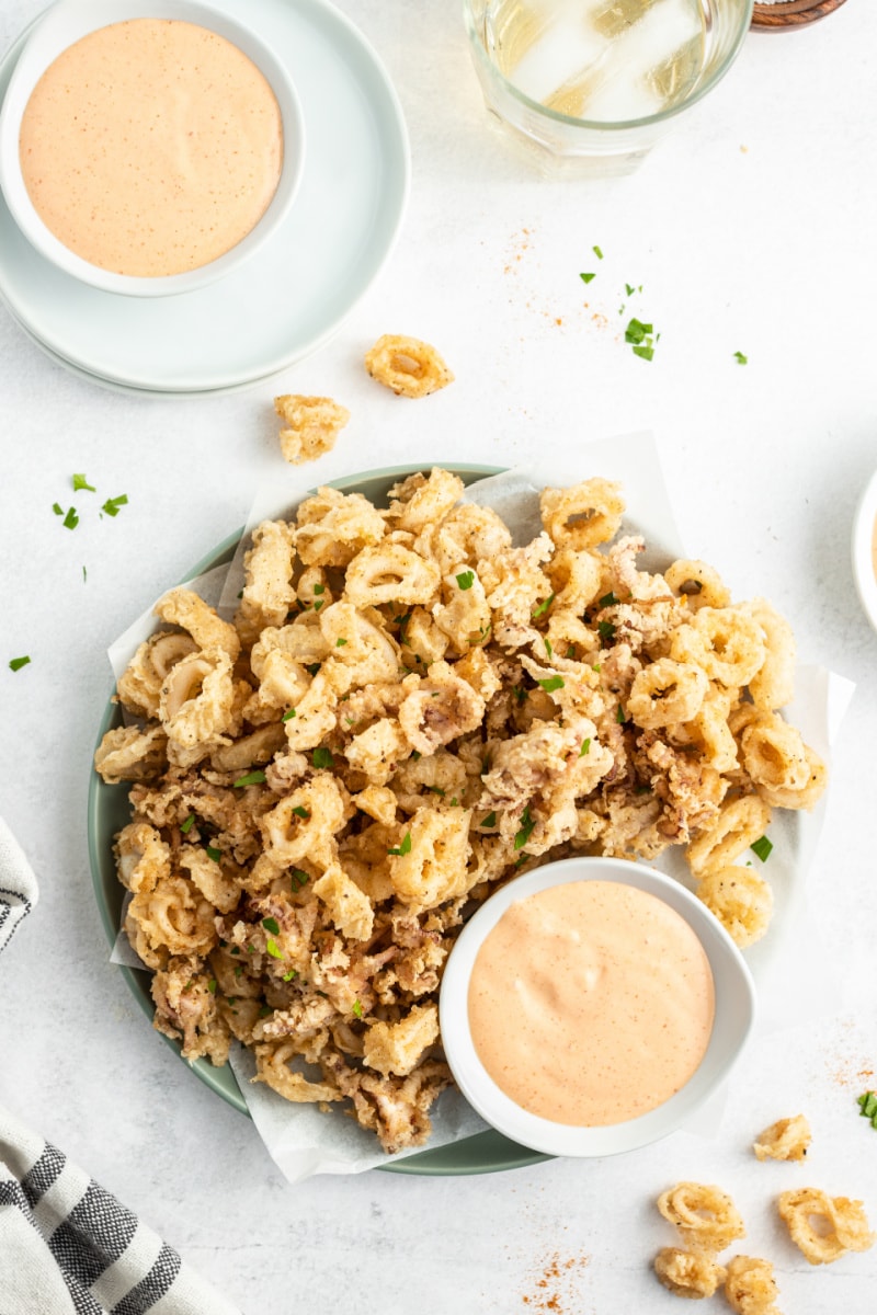
<path fill-rule="evenodd" d="M 485 936 L 509 906 L 536 892 L 571 881 L 615 881 L 656 896 L 692 927 L 703 947 L 715 986 L 715 1018 L 699 1066 L 669 1101 L 635 1119 L 605 1127 L 572 1127 L 530 1114 L 489 1076 L 469 1030 L 469 978 Z M 755 985 L 728 934 L 696 896 L 672 877 L 623 859 L 564 859 L 510 881 L 479 909 L 451 951 L 439 997 L 444 1055 L 472 1107 L 513 1141 L 560 1156 L 606 1156 L 657 1141 L 682 1127 L 740 1057 L 755 1022 Z"/>

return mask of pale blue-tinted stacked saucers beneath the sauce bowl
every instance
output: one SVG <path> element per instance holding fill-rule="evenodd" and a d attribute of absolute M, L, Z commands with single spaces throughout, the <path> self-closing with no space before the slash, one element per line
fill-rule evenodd
<path fill-rule="evenodd" d="M 235 0 L 214 0 L 229 13 Z M 409 189 L 396 92 L 326 0 L 249 0 L 247 24 L 289 68 L 308 134 L 292 213 L 241 270 L 149 302 L 89 288 L 21 234 L 0 199 L 0 296 L 60 364 L 122 391 L 227 392 L 321 347 L 389 256 Z M 28 32 L 0 62 L 0 96 Z"/>

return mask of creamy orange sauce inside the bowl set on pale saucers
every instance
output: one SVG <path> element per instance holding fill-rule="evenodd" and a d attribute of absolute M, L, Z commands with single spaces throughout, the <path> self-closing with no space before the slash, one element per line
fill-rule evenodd
<path fill-rule="evenodd" d="M 230 41 L 176 18 L 89 33 L 42 75 L 25 185 L 71 251 L 116 274 L 183 274 L 258 224 L 283 162 L 280 107 Z"/>

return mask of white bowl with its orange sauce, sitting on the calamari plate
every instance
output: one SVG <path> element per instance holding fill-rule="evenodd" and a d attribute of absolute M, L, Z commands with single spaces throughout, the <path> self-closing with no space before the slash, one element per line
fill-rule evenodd
<path fill-rule="evenodd" d="M 622 859 L 526 873 L 448 957 L 444 1053 L 473 1109 L 521 1145 L 634 1151 L 680 1128 L 740 1056 L 755 986 L 689 890 Z"/>

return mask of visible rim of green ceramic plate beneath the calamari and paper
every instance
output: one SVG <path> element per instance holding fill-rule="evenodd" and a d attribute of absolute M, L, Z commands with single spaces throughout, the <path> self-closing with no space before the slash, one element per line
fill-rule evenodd
<path fill-rule="evenodd" d="M 387 506 L 387 490 L 400 477 L 419 469 L 418 466 L 394 466 L 381 471 L 368 471 L 364 475 L 351 475 L 343 480 L 333 480 L 333 488 L 343 493 L 363 493 L 377 506 Z M 476 480 L 486 475 L 497 475 L 501 467 L 497 466 L 455 466 L 451 467 L 464 484 L 475 484 Z M 313 490 L 312 490 L 313 492 Z M 231 560 L 243 530 L 235 530 L 227 539 L 224 539 L 185 576 L 192 580 L 195 576 L 213 567 L 224 565 Z M 181 581 L 185 583 L 185 581 Z M 121 710 L 117 704 L 107 702 L 97 743 L 108 730 L 122 725 Z M 92 882 L 95 898 L 107 931 L 107 938 L 112 944 L 116 942 L 121 923 L 124 889 L 116 877 L 116 864 L 113 861 L 113 836 L 130 819 L 126 785 L 107 785 L 92 772 L 88 789 L 88 855 L 91 859 Z M 151 1020 L 153 997 L 150 995 L 150 977 L 145 970 L 133 968 L 120 968 L 134 997 Z M 163 1038 L 176 1053 L 180 1047 L 176 1041 Z M 181 1059 L 181 1056 L 180 1056 Z M 185 1061 L 184 1061 L 185 1063 Z M 196 1060 L 189 1068 L 202 1082 L 206 1084 L 224 1101 L 233 1105 L 241 1114 L 247 1114 L 247 1107 L 241 1095 L 241 1089 L 234 1073 L 225 1068 L 213 1068 L 208 1060 Z M 451 1145 L 439 1147 L 435 1151 L 421 1151 L 418 1155 L 388 1164 L 388 1173 L 422 1173 L 422 1174 L 467 1174 L 467 1173 L 496 1173 L 500 1169 L 518 1169 L 527 1164 L 538 1164 L 550 1156 L 536 1151 L 527 1151 L 525 1147 L 509 1141 L 498 1132 L 480 1132 L 477 1136 L 467 1137 Z"/>

